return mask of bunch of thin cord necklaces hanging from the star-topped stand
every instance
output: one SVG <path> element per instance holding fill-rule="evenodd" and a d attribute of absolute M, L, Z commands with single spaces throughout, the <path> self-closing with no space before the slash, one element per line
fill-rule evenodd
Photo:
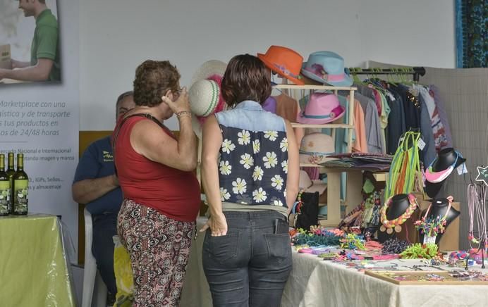
<path fill-rule="evenodd" d="M 470 216 L 470 229 L 468 232 L 468 239 L 471 244 L 478 244 L 477 249 L 480 250 L 482 244 L 484 249 L 488 247 L 487 244 L 487 186 L 468 184 L 468 213 Z M 475 216 L 476 215 L 476 216 Z M 474 221 L 476 220 L 477 234 L 480 237 L 475 237 Z M 472 246 L 471 246 L 472 248 Z"/>

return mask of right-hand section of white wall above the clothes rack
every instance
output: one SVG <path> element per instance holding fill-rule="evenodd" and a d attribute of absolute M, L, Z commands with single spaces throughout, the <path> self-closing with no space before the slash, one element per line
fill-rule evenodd
<path fill-rule="evenodd" d="M 454 0 L 361 1 L 362 59 L 456 68 Z"/>

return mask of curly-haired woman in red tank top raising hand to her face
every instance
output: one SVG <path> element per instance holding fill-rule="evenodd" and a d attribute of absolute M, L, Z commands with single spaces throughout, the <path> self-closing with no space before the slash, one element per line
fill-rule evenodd
<path fill-rule="evenodd" d="M 136 107 L 114 130 L 114 161 L 124 201 L 117 230 L 130 254 L 133 306 L 178 306 L 200 208 L 195 134 L 186 89 L 169 61 L 135 70 Z M 180 137 L 163 121 L 176 114 Z"/>

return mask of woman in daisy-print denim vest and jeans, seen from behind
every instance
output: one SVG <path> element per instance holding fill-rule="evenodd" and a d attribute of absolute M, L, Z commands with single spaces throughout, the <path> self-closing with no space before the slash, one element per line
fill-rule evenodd
<path fill-rule="evenodd" d="M 230 108 L 203 127 L 203 266 L 214 306 L 279 306 L 291 271 L 298 146 L 291 124 L 262 108 L 270 76 L 255 56 L 232 58 L 221 89 Z"/>

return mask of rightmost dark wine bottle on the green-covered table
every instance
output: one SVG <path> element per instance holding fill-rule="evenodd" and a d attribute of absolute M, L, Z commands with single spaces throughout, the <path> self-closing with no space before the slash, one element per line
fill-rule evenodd
<path fill-rule="evenodd" d="M 17 171 L 13 174 L 13 214 L 26 215 L 29 201 L 29 177 L 24 172 L 24 154 L 17 153 Z"/>

